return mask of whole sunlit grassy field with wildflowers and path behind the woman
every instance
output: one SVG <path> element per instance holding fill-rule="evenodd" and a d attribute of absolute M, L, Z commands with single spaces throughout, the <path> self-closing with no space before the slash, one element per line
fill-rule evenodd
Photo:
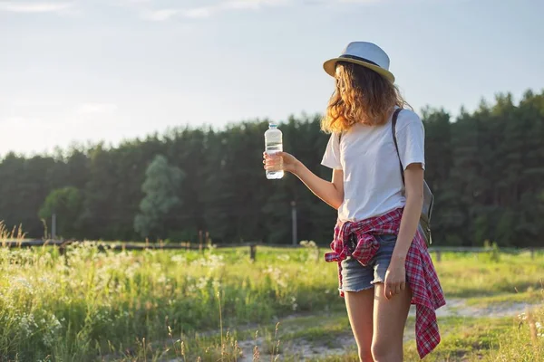
<path fill-rule="evenodd" d="M 0 360 L 356 361 L 336 266 L 317 255 L 0 248 Z M 436 267 L 447 299 L 462 303 L 439 319 L 442 344 L 425 360 L 544 360 L 542 309 L 479 313 L 541 303 L 544 254 L 446 253 Z M 411 326 L 406 360 L 417 359 Z"/>

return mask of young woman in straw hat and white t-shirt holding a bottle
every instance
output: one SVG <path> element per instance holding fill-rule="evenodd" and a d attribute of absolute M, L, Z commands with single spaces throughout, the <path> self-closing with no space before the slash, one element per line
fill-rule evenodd
<path fill-rule="evenodd" d="M 403 360 L 403 330 L 416 305 L 416 343 L 424 357 L 440 342 L 435 310 L 445 304 L 422 234 L 424 129 L 393 85 L 389 57 L 374 43 L 350 43 L 325 62 L 335 77 L 322 129 L 331 133 L 322 164 L 332 181 L 285 152 L 265 168 L 296 175 L 338 210 L 333 252 L 340 294 L 361 361 Z M 395 118 L 395 139 L 392 119 Z M 402 167 L 399 167 L 401 165 Z"/>

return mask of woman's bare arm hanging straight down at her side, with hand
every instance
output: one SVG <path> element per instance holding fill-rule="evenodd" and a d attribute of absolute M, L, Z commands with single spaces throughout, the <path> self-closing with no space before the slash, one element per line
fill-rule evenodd
<path fill-rule="evenodd" d="M 385 274 L 385 298 L 391 299 L 393 295 L 406 288 L 406 254 L 413 237 L 417 231 L 420 215 L 423 207 L 423 167 L 422 164 L 413 163 L 404 171 L 404 187 L 406 205 L 404 206 L 401 228 L 397 235 L 393 256 L 389 268 Z"/>

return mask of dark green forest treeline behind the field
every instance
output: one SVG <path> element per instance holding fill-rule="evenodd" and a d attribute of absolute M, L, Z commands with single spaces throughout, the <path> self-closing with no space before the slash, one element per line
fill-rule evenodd
<path fill-rule="evenodd" d="M 433 243 L 544 244 L 544 91 L 510 94 L 456 119 L 420 112 L 426 131 L 425 177 L 436 197 Z M 284 148 L 317 175 L 328 136 L 319 115 L 291 117 Z M 225 129 L 170 129 L 117 147 L 96 144 L 0 160 L 0 220 L 44 235 L 56 214 L 64 238 L 291 243 L 291 202 L 298 239 L 327 244 L 335 211 L 295 176 L 267 180 L 262 168 L 267 119 Z"/>

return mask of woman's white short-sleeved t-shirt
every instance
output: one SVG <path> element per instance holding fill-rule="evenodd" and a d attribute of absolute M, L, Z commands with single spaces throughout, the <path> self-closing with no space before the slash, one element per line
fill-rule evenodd
<path fill-rule="evenodd" d="M 421 163 L 424 169 L 425 131 L 412 110 L 399 113 L 396 137 L 403 168 Z M 391 117 L 382 126 L 356 124 L 342 134 L 340 145 L 333 133 L 321 164 L 344 170 L 344 202 L 338 209 L 342 222 L 386 214 L 406 203 Z"/>

